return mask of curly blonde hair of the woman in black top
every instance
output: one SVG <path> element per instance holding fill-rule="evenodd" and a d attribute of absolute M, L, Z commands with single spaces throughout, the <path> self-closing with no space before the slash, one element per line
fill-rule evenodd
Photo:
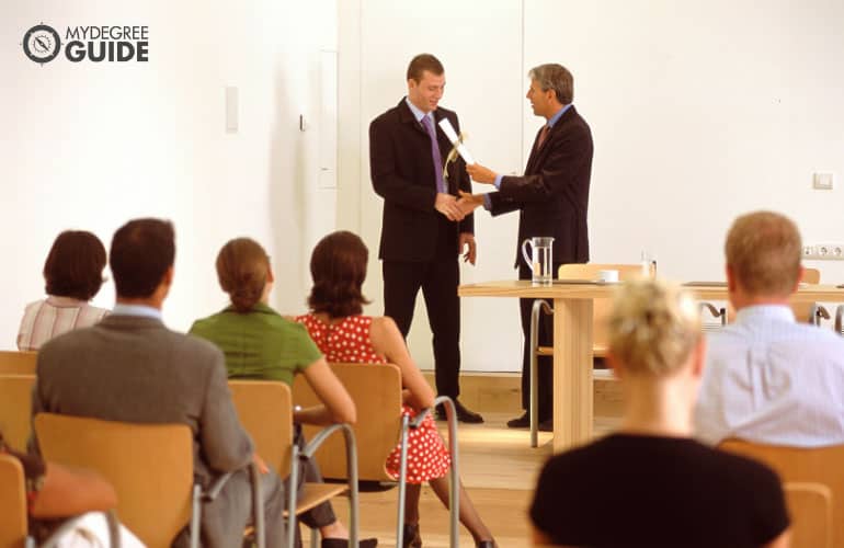
<path fill-rule="evenodd" d="M 678 285 L 634 279 L 615 295 L 609 316 L 609 352 L 627 372 L 670 376 L 700 340 L 700 313 Z"/>

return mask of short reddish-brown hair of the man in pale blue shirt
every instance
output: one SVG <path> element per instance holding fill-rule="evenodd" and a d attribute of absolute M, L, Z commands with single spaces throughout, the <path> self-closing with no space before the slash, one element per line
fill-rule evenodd
<path fill-rule="evenodd" d="M 742 215 L 727 232 L 727 266 L 749 295 L 785 297 L 800 276 L 802 243 L 797 226 L 773 212 Z"/>

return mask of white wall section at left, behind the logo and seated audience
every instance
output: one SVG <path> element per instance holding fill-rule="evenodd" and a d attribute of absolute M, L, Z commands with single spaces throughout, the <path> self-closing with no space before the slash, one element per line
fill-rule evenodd
<path fill-rule="evenodd" d="M 335 11 L 335 0 L 0 4 L 0 347 L 13 347 L 24 304 L 43 295 L 60 230 L 92 230 L 107 248 L 138 216 L 175 224 L 172 328 L 225 304 L 214 258 L 236 236 L 272 255 L 274 304 L 305 309 L 307 258 L 334 227 L 317 144 L 319 52 L 337 47 Z M 38 66 L 20 43 L 42 21 L 149 25 L 149 62 Z M 237 134 L 225 132 L 226 85 L 239 88 Z M 113 305 L 111 283 L 94 302 Z"/>

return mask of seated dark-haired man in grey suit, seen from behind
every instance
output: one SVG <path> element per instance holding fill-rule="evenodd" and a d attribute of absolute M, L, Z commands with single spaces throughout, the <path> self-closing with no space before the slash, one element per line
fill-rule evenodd
<path fill-rule="evenodd" d="M 33 414 L 186 424 L 194 436 L 196 481 L 207 488 L 218 476 L 232 472 L 219 496 L 203 504 L 203 544 L 240 546 L 252 506 L 247 465 L 255 455 L 231 402 L 223 353 L 162 322 L 161 307 L 173 282 L 174 240 L 173 226 L 158 219 L 132 220 L 114 233 L 114 311 L 92 328 L 42 346 Z M 282 482 L 272 471 L 261 480 L 266 546 L 280 547 Z M 176 544 L 185 540 L 183 533 Z"/>

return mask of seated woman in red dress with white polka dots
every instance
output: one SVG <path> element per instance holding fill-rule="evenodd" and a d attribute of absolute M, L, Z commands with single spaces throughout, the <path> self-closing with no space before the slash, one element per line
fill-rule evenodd
<path fill-rule="evenodd" d="M 434 403 L 434 392 L 410 357 L 404 340 L 391 318 L 362 316 L 366 302 L 361 286 L 366 276 L 368 251 L 352 232 L 338 231 L 320 240 L 310 259 L 313 288 L 308 297 L 310 313 L 297 318 L 308 328 L 329 362 L 392 363 L 401 369 L 406 389 L 403 412 L 411 418 Z M 398 410 L 397 410 L 398 411 Z M 408 486 L 404 513 L 404 547 L 422 546 L 419 533 L 419 496 L 422 483 L 448 503 L 450 467 L 436 425 L 429 414 L 408 438 Z M 413 457 L 415 455 L 415 458 Z M 399 477 L 399 446 L 387 460 L 387 470 Z M 460 522 L 479 547 L 495 546 L 466 490 L 460 486 Z"/>

